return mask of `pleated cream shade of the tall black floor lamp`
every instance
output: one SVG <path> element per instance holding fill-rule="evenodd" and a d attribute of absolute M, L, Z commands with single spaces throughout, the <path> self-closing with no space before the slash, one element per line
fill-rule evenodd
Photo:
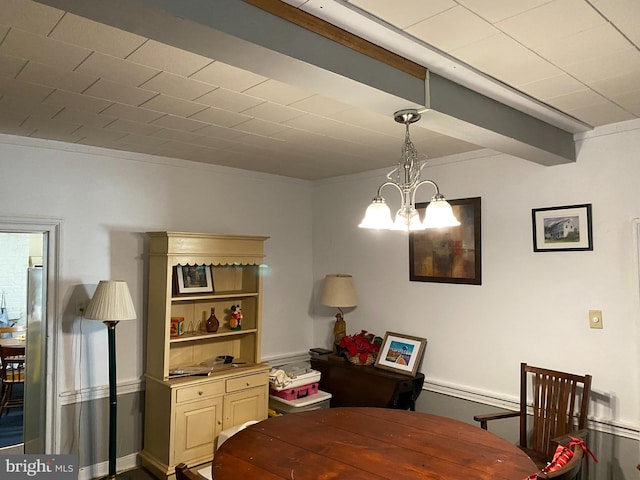
<path fill-rule="evenodd" d="M 102 321 L 135 320 L 136 310 L 127 282 L 101 280 L 87 305 L 84 318 Z"/>

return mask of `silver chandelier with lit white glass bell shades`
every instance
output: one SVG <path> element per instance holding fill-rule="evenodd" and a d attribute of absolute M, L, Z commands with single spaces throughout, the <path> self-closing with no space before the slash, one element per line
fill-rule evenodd
<path fill-rule="evenodd" d="M 394 114 L 394 120 L 398 123 L 404 123 L 406 127 L 402 155 L 396 168 L 387 174 L 388 181 L 378 187 L 378 193 L 358 226 L 360 228 L 413 231 L 460 225 L 460 222 L 453 215 L 451 205 L 440 193 L 438 185 L 432 180 L 420 180 L 420 173 L 426 163 L 420 162 L 418 151 L 409 138 L 409 125 L 420 120 L 420 114 L 413 109 L 399 110 Z M 424 221 L 420 221 L 420 215 L 415 207 L 416 191 L 425 184 L 433 186 L 436 193 L 426 208 Z M 395 221 L 391 220 L 391 210 L 381 195 L 382 189 L 387 185 L 397 188 L 402 198 L 402 205 L 396 213 Z"/>

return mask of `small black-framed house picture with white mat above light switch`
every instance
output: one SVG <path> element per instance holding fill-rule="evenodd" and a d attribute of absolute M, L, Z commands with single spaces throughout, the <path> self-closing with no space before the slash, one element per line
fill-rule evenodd
<path fill-rule="evenodd" d="M 591 204 L 531 210 L 534 252 L 593 250 Z"/>

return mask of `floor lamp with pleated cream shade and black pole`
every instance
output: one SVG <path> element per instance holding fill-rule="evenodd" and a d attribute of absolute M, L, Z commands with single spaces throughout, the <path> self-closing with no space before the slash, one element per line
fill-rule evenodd
<path fill-rule="evenodd" d="M 116 475 L 116 425 L 118 415 L 118 395 L 116 386 L 116 325 L 120 320 L 135 320 L 136 310 L 129 293 L 127 282 L 102 280 L 87 305 L 84 317 L 101 320 L 107 326 L 109 341 L 109 474 L 107 479 L 117 479 Z"/>

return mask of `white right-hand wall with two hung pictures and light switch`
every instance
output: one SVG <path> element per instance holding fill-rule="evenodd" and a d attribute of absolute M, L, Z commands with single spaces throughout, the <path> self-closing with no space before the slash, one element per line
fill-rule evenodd
<path fill-rule="evenodd" d="M 410 282 L 407 235 L 357 228 L 386 170 L 316 184 L 315 295 L 325 274 L 354 275 L 359 304 L 346 312 L 348 333 L 426 337 L 428 382 L 516 399 L 522 361 L 589 373 L 591 414 L 637 436 L 640 122 L 584 137 L 567 165 L 483 151 L 424 170 L 448 198 L 482 198 L 481 286 Z M 433 194 L 423 188 L 418 201 Z M 394 211 L 398 195 L 383 195 Z M 531 209 L 583 203 L 593 205 L 594 250 L 534 253 Z M 603 330 L 589 329 L 589 309 L 603 311 Z M 316 343 L 328 345 L 333 312 L 313 313 Z"/>

